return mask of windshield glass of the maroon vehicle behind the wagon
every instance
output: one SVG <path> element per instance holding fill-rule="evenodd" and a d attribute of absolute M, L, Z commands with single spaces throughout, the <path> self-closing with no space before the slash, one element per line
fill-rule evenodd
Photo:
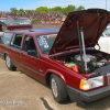
<path fill-rule="evenodd" d="M 22 25 L 22 24 L 31 24 L 30 19 L 12 19 L 3 21 L 7 25 Z"/>

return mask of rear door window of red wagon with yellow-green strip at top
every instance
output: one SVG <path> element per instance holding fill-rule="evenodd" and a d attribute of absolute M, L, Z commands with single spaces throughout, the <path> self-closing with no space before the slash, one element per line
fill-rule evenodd
<path fill-rule="evenodd" d="M 11 46 L 20 48 L 21 47 L 21 41 L 22 41 L 23 35 L 22 34 L 14 34 L 12 41 L 11 41 Z"/>

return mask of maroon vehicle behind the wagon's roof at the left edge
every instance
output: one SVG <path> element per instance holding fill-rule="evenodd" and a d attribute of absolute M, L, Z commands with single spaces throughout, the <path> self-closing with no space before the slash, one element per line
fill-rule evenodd
<path fill-rule="evenodd" d="M 6 30 L 32 29 L 29 18 L 0 18 L 0 36 Z"/>

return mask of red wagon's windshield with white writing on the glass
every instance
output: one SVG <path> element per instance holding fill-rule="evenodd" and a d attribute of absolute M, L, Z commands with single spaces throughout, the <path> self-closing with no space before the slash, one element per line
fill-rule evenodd
<path fill-rule="evenodd" d="M 50 53 L 57 34 L 36 35 L 42 54 Z"/>

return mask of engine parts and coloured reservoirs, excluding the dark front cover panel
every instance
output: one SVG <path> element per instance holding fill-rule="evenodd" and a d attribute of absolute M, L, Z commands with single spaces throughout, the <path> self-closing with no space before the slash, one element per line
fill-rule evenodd
<path fill-rule="evenodd" d="M 107 65 L 110 66 L 110 56 L 102 55 L 101 53 L 97 54 L 86 54 L 86 61 L 82 56 L 82 62 L 80 58 L 80 54 L 74 54 L 67 57 L 62 57 L 64 59 L 59 59 L 59 63 L 63 64 L 64 66 L 75 70 L 76 73 L 81 74 L 82 73 L 82 67 L 85 70 L 85 74 L 91 74 L 91 73 L 97 73 L 99 72 L 105 73 L 105 68 Z M 85 62 L 87 63 L 87 72 L 85 67 Z M 82 64 L 81 64 L 82 63 Z M 109 69 L 110 72 L 110 69 Z"/>

